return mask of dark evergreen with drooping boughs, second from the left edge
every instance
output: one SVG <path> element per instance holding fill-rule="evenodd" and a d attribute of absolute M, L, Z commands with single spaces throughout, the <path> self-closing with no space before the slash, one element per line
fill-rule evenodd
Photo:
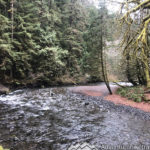
<path fill-rule="evenodd" d="M 34 41 L 33 34 L 37 31 L 37 8 L 34 3 L 17 1 L 14 3 L 14 31 L 13 41 L 13 77 L 23 79 L 32 72 L 32 60 L 38 50 L 38 44 Z"/>

